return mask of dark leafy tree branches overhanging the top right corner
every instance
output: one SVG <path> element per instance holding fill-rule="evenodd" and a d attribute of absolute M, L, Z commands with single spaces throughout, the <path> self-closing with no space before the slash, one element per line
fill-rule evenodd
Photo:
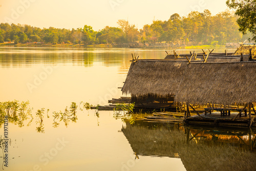
<path fill-rule="evenodd" d="M 246 34 L 248 30 L 253 35 L 252 40 L 256 40 L 256 1 L 227 0 L 226 4 L 230 9 L 235 9 L 235 14 L 239 16 L 237 19 L 239 31 Z"/>

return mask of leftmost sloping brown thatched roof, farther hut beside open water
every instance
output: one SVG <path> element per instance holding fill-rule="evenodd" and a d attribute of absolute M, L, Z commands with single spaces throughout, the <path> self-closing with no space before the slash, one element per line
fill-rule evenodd
<path fill-rule="evenodd" d="M 188 61 L 138 60 L 127 74 L 123 94 L 168 97 L 176 94 Z"/>

